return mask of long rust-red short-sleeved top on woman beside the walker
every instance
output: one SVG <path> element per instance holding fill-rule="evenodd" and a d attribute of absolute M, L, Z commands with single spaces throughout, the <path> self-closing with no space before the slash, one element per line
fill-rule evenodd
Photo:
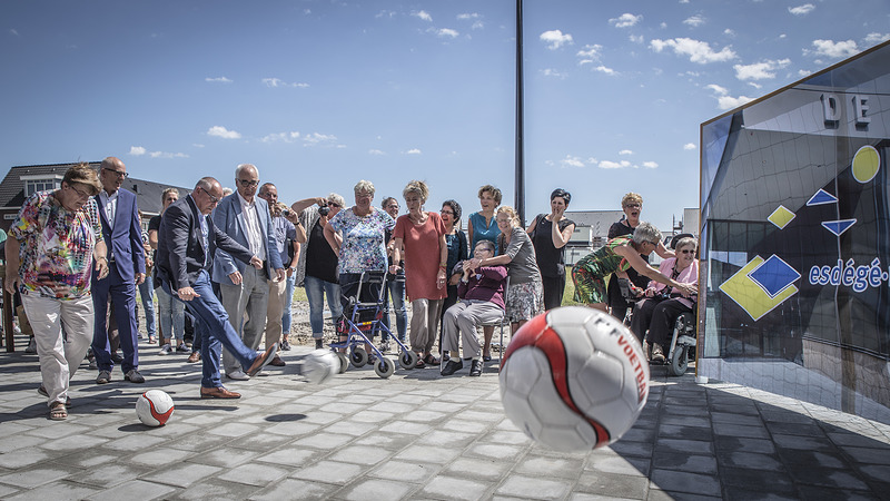
<path fill-rule="evenodd" d="M 405 248 L 405 293 L 408 299 L 443 299 L 445 287 L 436 287 L 442 248 L 439 238 L 445 235 L 445 224 L 436 213 L 427 213 L 424 224 L 415 225 L 407 214 L 398 216 L 394 238 L 402 238 Z"/>

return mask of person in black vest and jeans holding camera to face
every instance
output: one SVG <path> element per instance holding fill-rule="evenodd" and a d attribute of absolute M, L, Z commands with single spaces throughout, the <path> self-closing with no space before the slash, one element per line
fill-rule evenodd
<path fill-rule="evenodd" d="M 325 296 L 330 310 L 332 322 L 343 314 L 340 306 L 340 285 L 337 253 L 325 239 L 325 226 L 346 204 L 336 193 L 325 197 L 306 198 L 294 203 L 290 208 L 299 215 L 306 228 L 306 245 L 299 253 L 296 284 L 306 287 L 309 299 L 309 325 L 313 327 L 315 347 L 323 347 L 325 326 Z M 339 235 L 336 236 L 339 238 Z"/>

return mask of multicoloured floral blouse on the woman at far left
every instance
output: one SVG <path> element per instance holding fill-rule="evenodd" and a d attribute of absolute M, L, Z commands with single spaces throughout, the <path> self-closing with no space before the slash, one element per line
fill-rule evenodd
<path fill-rule="evenodd" d="M 83 207 L 68 210 L 52 194 L 31 195 L 9 229 L 10 236 L 22 240 L 19 292 L 76 299 L 90 293 L 92 250 L 102 240 L 99 207 L 90 197 Z"/>

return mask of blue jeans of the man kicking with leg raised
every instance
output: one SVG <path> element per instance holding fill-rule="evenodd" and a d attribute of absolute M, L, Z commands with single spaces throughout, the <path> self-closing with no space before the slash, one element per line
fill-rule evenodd
<path fill-rule="evenodd" d="M 176 297 L 176 301 L 185 304 L 195 316 L 195 335 L 201 338 L 201 387 L 219 387 L 222 386 L 222 379 L 219 375 L 222 346 L 235 356 L 245 372 L 250 369 L 258 354 L 245 346 L 229 323 L 229 315 L 214 294 L 207 272 L 200 272 L 191 288 L 200 296 L 188 302 L 179 297 Z M 164 282 L 164 292 L 172 294 L 167 282 Z"/>

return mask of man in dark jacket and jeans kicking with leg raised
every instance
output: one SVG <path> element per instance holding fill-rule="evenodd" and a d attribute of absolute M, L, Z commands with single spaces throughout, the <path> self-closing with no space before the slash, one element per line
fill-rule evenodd
<path fill-rule="evenodd" d="M 278 343 L 257 353 L 241 342 L 229 323 L 226 310 L 214 295 L 207 267 L 215 248 L 233 258 L 263 267 L 263 259 L 220 232 L 208 214 L 222 198 L 222 187 L 212 177 L 201 178 L 195 190 L 172 203 L 164 212 L 158 230 L 158 257 L 155 266 L 164 289 L 195 316 L 195 334 L 201 338 L 201 399 L 238 399 L 241 395 L 222 387 L 219 375 L 221 346 L 235 356 L 247 375 L 253 376 L 275 357 Z"/>

